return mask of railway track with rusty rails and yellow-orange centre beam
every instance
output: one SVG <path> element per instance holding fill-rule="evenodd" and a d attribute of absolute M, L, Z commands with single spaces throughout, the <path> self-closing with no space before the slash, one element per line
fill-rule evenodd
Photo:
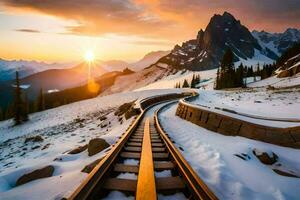
<path fill-rule="evenodd" d="M 103 199 L 115 191 L 135 199 L 217 199 L 163 131 L 157 112 L 156 117 L 145 112 L 69 199 Z"/>

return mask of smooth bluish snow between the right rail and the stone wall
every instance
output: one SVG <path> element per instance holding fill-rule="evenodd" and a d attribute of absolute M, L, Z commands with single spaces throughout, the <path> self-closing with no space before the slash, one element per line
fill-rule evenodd
<path fill-rule="evenodd" d="M 299 199 L 300 178 L 276 174 L 252 151 L 276 153 L 279 156 L 277 167 L 299 176 L 300 150 L 209 131 L 175 116 L 176 107 L 173 105 L 160 114 L 161 124 L 175 145 L 183 149 L 181 153 L 185 159 L 220 199 Z"/>

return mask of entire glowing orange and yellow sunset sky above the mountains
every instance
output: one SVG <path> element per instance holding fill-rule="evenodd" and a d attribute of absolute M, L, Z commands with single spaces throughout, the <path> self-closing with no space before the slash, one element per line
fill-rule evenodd
<path fill-rule="evenodd" d="M 229 11 L 250 30 L 300 28 L 299 0 L 0 0 L 0 58 L 137 60 L 195 38 Z"/>

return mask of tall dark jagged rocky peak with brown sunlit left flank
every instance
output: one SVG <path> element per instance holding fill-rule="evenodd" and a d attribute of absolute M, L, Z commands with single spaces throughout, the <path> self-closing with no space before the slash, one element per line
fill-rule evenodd
<path fill-rule="evenodd" d="M 233 15 L 224 12 L 223 15 L 214 15 L 205 30 L 201 29 L 195 39 L 183 42 L 181 46 L 176 45 L 171 53 L 161 58 L 158 63 L 197 71 L 213 69 L 219 66 L 228 48 L 233 51 L 236 62 L 242 61 L 247 65 L 251 61 L 255 64 L 273 62 L 279 54 L 274 52 L 274 49 L 263 45 L 261 40 L 254 37 L 256 35 L 259 34 L 252 34 Z M 285 41 L 290 41 L 292 44 L 296 35 L 293 31 L 292 34 L 286 35 L 293 36 L 282 36 Z M 285 44 L 285 46 L 289 45 Z M 278 45 L 282 48 L 283 46 L 283 44 Z"/>

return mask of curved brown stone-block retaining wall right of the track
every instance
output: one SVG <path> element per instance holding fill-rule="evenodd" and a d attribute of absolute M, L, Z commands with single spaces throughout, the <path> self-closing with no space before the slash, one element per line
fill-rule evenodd
<path fill-rule="evenodd" d="M 210 111 L 182 99 L 176 115 L 208 130 L 229 136 L 241 136 L 271 144 L 300 149 L 300 126 L 269 127 Z"/>

